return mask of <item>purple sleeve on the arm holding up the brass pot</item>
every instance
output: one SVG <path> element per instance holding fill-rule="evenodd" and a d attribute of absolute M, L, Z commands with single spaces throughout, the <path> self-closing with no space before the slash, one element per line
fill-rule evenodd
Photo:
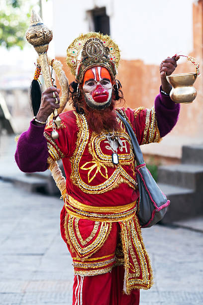
<path fill-rule="evenodd" d="M 174 128 L 178 121 L 180 112 L 180 104 L 176 104 L 170 98 L 160 93 L 155 99 L 155 112 L 157 117 L 157 125 L 161 138 L 166 136 Z"/>

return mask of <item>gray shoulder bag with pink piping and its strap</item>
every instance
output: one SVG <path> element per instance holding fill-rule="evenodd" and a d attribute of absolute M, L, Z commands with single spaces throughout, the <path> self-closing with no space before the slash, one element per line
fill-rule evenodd
<path fill-rule="evenodd" d="M 162 193 L 156 181 L 147 169 L 146 164 L 144 163 L 143 154 L 131 126 L 125 118 L 123 118 L 118 112 L 116 113 L 123 122 L 126 131 L 131 138 L 133 152 L 137 163 L 135 172 L 140 194 L 139 212 L 137 215 L 142 228 L 149 228 L 164 217 L 170 201 L 167 200 L 166 196 Z"/>

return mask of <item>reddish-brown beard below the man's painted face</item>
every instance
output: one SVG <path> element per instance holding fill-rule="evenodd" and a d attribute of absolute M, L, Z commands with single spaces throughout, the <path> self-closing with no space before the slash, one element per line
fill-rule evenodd
<path fill-rule="evenodd" d="M 118 131 L 120 126 L 116 120 L 116 113 L 114 111 L 115 101 L 111 101 L 108 108 L 103 110 L 96 110 L 90 108 L 85 101 L 83 101 L 82 108 L 84 109 L 86 118 L 90 129 L 100 134 L 102 131 Z"/>

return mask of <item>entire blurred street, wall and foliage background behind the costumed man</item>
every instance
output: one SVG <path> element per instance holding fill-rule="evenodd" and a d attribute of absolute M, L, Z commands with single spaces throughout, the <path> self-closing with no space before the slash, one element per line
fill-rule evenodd
<path fill-rule="evenodd" d="M 0 0 L 0 304 L 71 304 L 73 271 L 60 239 L 59 191 L 48 170 L 24 174 L 14 161 L 14 137 L 33 116 L 29 87 L 37 53 L 24 37 L 32 8 L 53 30 L 48 56 L 62 62 L 69 82 L 69 44 L 81 33 L 107 33 L 121 51 L 117 79 L 124 106 L 151 108 L 163 59 L 193 56 L 203 73 L 203 0 Z M 181 58 L 175 73 L 185 72 L 195 66 Z M 143 230 L 156 283 L 141 293 L 143 305 L 203 304 L 202 76 L 194 86 L 197 98 L 181 105 L 174 130 L 159 144 L 141 147 L 171 200 L 164 226 Z"/>

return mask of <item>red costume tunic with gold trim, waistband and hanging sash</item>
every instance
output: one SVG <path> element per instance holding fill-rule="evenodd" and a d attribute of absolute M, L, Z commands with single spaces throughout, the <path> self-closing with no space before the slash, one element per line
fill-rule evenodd
<path fill-rule="evenodd" d="M 140 145 L 160 141 L 154 108 L 117 111 L 131 124 Z M 75 274 L 99 275 L 124 265 L 127 294 L 133 288 L 149 289 L 152 272 L 136 216 L 136 165 L 124 125 L 118 119 L 121 129 L 116 134 L 123 146 L 117 150 L 119 163 L 113 164 L 108 132 L 96 134 L 85 115 L 75 111 L 60 117 L 59 138 L 50 137 L 51 124 L 44 136 L 48 163 L 63 160 L 67 194 L 61 233 L 72 255 Z"/>

